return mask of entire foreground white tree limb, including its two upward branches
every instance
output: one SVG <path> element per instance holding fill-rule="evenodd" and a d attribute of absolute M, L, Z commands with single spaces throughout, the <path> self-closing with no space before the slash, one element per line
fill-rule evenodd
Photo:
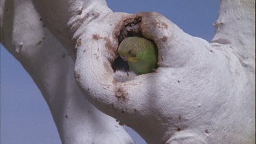
<path fill-rule="evenodd" d="M 100 111 L 147 143 L 255 143 L 255 1 L 223 0 L 210 44 L 155 12 L 130 15 L 111 12 L 104 1 L 65 2 L 34 0 Z M 139 17 L 143 36 L 158 46 L 159 68 L 118 81 L 111 68 L 117 37 L 125 21 Z"/>

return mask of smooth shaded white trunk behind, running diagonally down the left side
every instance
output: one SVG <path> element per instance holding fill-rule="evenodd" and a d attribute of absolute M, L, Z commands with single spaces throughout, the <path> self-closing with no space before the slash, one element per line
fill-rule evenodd
<path fill-rule="evenodd" d="M 33 3 L 1 1 L 1 10 L 1 42 L 38 85 L 62 143 L 133 143 L 123 126 L 83 97 L 74 79 L 74 62 L 43 27 Z"/>

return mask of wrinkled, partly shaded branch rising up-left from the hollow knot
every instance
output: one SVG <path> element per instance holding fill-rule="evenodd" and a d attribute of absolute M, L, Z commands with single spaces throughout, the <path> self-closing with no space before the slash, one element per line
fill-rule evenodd
<path fill-rule="evenodd" d="M 33 0 L 44 24 L 64 45 L 71 57 L 76 57 L 76 38 L 85 31 L 79 31 L 81 24 L 102 18 L 112 11 L 104 0 Z"/>

